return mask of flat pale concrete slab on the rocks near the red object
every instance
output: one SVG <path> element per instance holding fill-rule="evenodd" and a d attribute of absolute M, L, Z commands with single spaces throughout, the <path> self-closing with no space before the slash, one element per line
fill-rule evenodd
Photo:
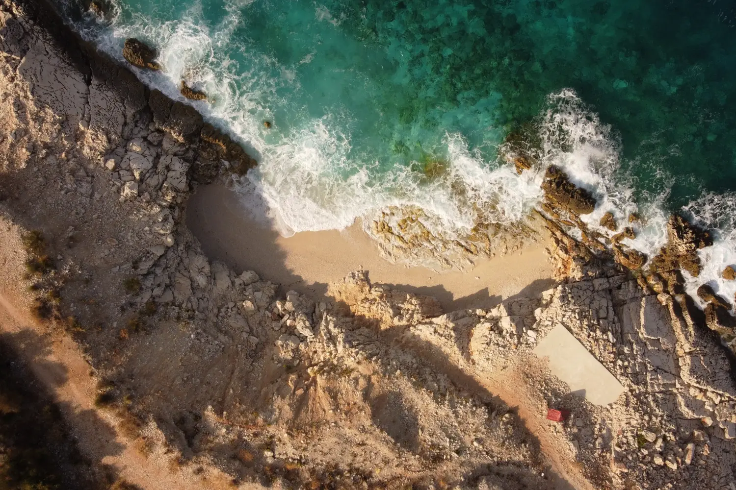
<path fill-rule="evenodd" d="M 623 386 L 614 375 L 562 325 L 557 325 L 540 340 L 534 353 L 548 357 L 552 374 L 565 381 L 571 392 L 584 395 L 590 403 L 606 406 L 623 393 Z"/>

